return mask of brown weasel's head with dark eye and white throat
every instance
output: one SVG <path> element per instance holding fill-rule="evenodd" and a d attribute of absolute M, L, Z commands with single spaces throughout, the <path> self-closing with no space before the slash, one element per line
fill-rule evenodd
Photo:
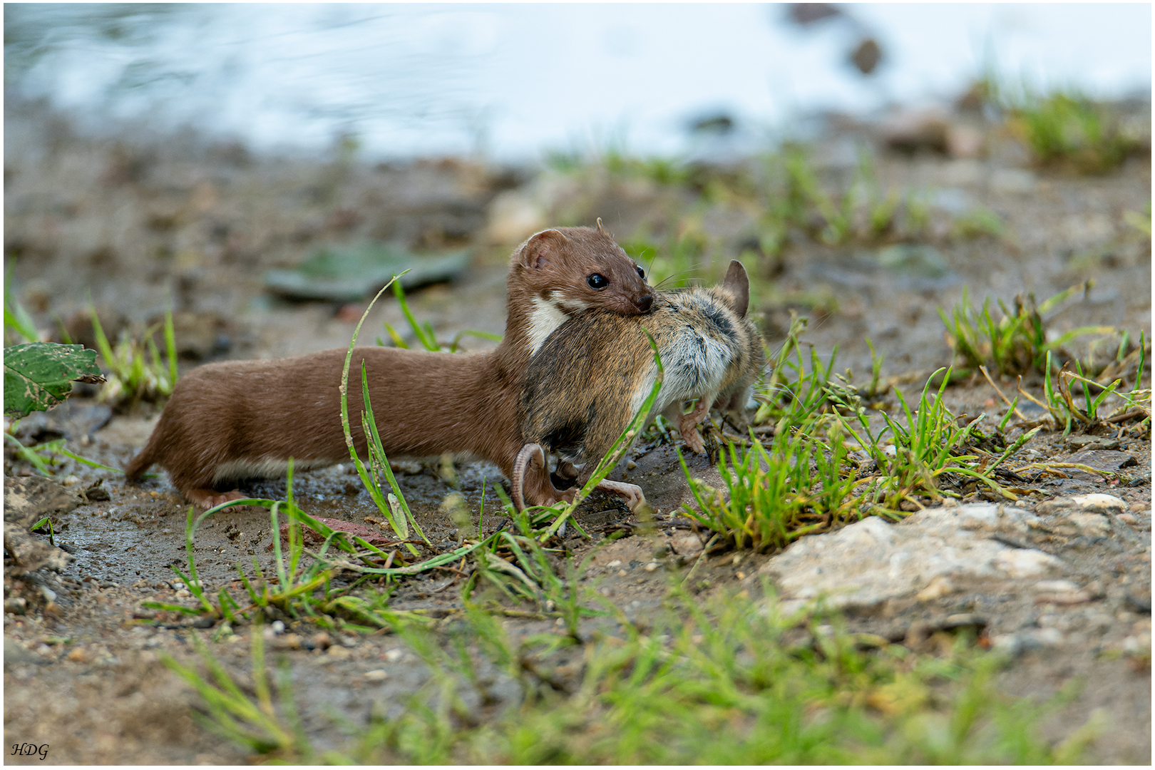
<path fill-rule="evenodd" d="M 507 290 L 511 317 L 515 307 L 528 315 L 534 350 L 573 313 L 599 308 L 640 315 L 654 307 L 646 270 L 598 227 L 543 230 L 514 252 Z M 508 334 L 508 330 L 507 330 Z"/>

